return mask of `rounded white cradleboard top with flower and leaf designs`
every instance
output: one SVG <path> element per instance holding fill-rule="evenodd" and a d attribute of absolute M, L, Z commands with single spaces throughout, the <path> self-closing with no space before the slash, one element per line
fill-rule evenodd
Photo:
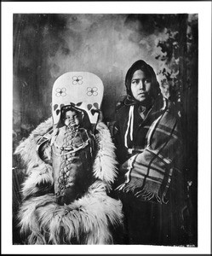
<path fill-rule="evenodd" d="M 103 93 L 103 83 L 94 73 L 68 72 L 62 74 L 54 82 L 52 90 L 54 127 L 60 120 L 60 109 L 70 104 L 74 104 L 77 108 L 85 110 L 89 115 L 90 123 L 96 124 Z"/>

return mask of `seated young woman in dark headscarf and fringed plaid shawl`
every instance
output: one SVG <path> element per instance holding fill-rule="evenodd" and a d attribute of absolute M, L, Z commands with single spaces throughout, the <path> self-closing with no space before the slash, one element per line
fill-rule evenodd
<path fill-rule="evenodd" d="M 181 244 L 184 207 L 179 119 L 163 98 L 151 66 L 136 61 L 126 74 L 113 140 L 127 244 Z"/>

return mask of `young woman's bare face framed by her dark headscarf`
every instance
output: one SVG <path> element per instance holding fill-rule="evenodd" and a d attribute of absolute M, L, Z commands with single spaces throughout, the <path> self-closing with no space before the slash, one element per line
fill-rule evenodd
<path fill-rule="evenodd" d="M 152 81 L 142 70 L 136 70 L 131 79 L 131 91 L 135 100 L 145 102 L 150 97 Z"/>

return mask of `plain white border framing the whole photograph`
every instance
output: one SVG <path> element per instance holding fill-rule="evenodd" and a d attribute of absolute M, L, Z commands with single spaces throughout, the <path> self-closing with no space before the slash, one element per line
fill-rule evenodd
<path fill-rule="evenodd" d="M 210 253 L 211 2 L 2 2 L 2 253 Z M 22 246 L 12 244 L 13 15 L 23 13 L 198 14 L 198 247 Z M 206 115 L 207 114 L 207 115 Z"/>

